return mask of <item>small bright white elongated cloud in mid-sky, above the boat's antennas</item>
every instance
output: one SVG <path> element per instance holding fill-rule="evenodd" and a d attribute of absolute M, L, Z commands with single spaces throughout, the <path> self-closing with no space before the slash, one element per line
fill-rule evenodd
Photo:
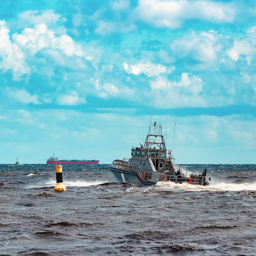
<path fill-rule="evenodd" d="M 124 70 L 128 74 L 135 74 L 136 76 L 143 73 L 146 76 L 158 76 L 162 73 L 172 73 L 174 67 L 166 67 L 161 64 L 153 64 L 149 61 L 146 63 L 138 63 L 136 65 L 128 65 L 126 62 L 123 63 Z"/>

